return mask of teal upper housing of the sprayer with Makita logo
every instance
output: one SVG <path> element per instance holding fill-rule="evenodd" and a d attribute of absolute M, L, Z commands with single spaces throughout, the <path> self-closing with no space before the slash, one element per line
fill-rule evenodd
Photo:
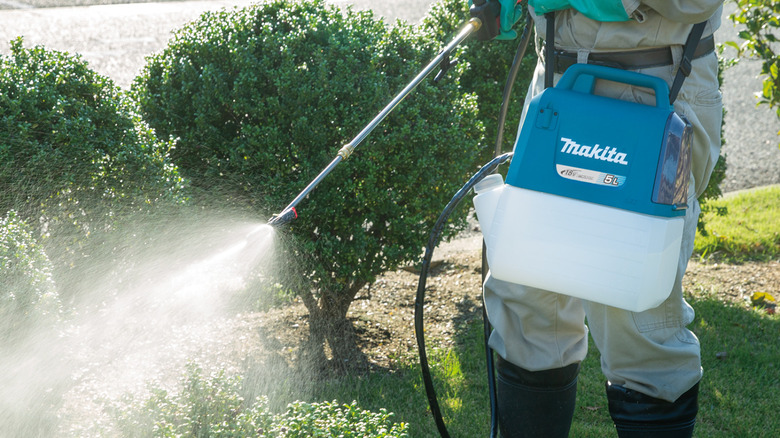
<path fill-rule="evenodd" d="M 592 94 L 596 79 L 644 86 L 656 103 Z M 680 153 L 676 139 L 689 131 L 681 132 L 685 121 L 668 96 L 657 77 L 572 66 L 529 105 L 507 184 L 654 216 L 684 215 L 690 153 Z"/>

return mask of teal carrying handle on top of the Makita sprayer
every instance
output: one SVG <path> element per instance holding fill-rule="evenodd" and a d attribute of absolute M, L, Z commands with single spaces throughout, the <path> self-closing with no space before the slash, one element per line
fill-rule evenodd
<path fill-rule="evenodd" d="M 582 78 L 583 81 L 579 81 Z M 555 88 L 581 91 L 592 94 L 596 79 L 619 82 L 637 87 L 650 88 L 655 92 L 655 106 L 667 109 L 669 103 L 669 86 L 661 78 L 628 70 L 605 67 L 593 64 L 574 64 L 563 74 Z"/>

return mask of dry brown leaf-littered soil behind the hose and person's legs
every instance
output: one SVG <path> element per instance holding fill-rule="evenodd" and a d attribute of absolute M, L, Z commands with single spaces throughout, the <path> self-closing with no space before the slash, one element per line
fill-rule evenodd
<path fill-rule="evenodd" d="M 427 281 L 425 334 L 436 345 L 448 346 L 463 324 L 481 324 L 481 250 L 451 252 L 434 257 L 434 262 L 437 266 Z M 362 354 L 372 367 L 393 369 L 395 358 L 417 355 L 414 302 L 418 281 L 419 273 L 413 268 L 385 273 L 352 304 L 349 316 Z M 735 265 L 691 260 L 684 290 L 693 295 L 715 293 L 723 301 L 744 306 L 750 305 L 755 292 L 780 299 L 780 262 Z M 308 330 L 305 308 L 294 304 L 275 315 L 263 319 L 263 331 L 291 353 L 297 351 L 303 330 Z"/>

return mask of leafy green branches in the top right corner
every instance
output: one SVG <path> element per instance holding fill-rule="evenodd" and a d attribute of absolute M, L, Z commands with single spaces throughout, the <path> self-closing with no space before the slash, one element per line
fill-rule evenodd
<path fill-rule="evenodd" d="M 764 75 L 759 104 L 774 108 L 780 117 L 780 53 L 777 52 L 780 30 L 780 3 L 776 0 L 733 0 L 737 12 L 729 18 L 744 25 L 740 30 L 741 44 L 727 41 L 724 44 L 737 49 L 740 57 L 751 56 L 762 60 Z M 780 133 L 779 133 L 780 134 Z"/>

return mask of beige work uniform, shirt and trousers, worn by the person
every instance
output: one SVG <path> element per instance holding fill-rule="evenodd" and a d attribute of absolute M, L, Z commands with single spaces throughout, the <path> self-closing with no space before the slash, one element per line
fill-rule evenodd
<path fill-rule="evenodd" d="M 636 70 L 663 78 L 671 86 L 692 24 L 711 17 L 704 37 L 720 25 L 722 0 L 624 0 L 623 3 L 633 18 L 631 21 L 604 23 L 571 9 L 557 12 L 556 47 L 578 53 L 580 62 L 585 62 L 589 52 L 671 47 L 675 65 Z M 537 35 L 545 35 L 545 20 L 536 18 Z M 543 89 L 541 53 L 539 59 L 526 103 Z M 714 53 L 696 59 L 674 103 L 675 110 L 693 125 L 694 140 L 689 208 L 677 277 L 669 298 L 657 308 L 637 313 L 507 283 L 488 275 L 484 300 L 494 327 L 490 346 L 504 359 L 530 371 L 582 361 L 587 353 L 590 328 L 601 353 L 602 371 L 614 384 L 674 401 L 701 379 L 699 341 L 686 328 L 693 321 L 694 311 L 683 298 L 682 277 L 693 251 L 700 213 L 696 198 L 706 188 L 720 153 L 722 102 L 717 70 Z M 556 75 L 555 80 L 558 78 Z M 596 94 L 648 104 L 655 102 L 651 93 L 624 84 L 602 84 Z"/>

